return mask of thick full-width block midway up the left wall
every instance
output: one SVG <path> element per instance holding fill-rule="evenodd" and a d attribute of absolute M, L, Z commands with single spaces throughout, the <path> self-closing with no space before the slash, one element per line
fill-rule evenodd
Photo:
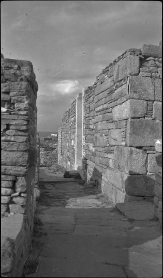
<path fill-rule="evenodd" d="M 27 166 L 28 165 L 28 153 L 27 152 L 8 152 L 2 151 L 1 152 L 2 158 L 1 162 L 2 165 L 8 166 Z"/>

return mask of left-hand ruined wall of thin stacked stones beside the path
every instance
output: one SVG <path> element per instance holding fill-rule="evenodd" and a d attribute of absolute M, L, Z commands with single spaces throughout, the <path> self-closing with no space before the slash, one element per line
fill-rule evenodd
<path fill-rule="evenodd" d="M 33 229 L 38 85 L 31 62 L 1 62 L 2 275 L 20 277 Z"/>

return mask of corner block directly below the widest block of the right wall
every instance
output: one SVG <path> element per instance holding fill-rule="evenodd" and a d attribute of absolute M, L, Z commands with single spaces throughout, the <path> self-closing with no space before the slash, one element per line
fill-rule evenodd
<path fill-rule="evenodd" d="M 114 167 L 117 170 L 128 174 L 146 174 L 147 154 L 145 151 L 116 146 L 114 154 Z"/>

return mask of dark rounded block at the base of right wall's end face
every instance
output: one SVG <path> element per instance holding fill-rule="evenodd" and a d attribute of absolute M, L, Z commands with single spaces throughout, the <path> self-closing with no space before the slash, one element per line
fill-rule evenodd
<path fill-rule="evenodd" d="M 131 196 L 154 196 L 154 176 L 124 175 L 125 192 Z"/>

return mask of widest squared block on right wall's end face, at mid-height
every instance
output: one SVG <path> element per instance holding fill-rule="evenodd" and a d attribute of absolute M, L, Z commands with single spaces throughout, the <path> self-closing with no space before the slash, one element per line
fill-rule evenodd
<path fill-rule="evenodd" d="M 161 138 L 161 121 L 152 119 L 127 120 L 127 146 L 154 147 L 157 138 Z"/>

